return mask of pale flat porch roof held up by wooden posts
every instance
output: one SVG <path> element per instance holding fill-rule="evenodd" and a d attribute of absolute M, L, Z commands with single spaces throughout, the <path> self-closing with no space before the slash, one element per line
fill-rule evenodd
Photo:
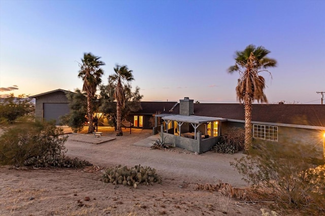
<path fill-rule="evenodd" d="M 169 115 L 163 117 L 164 120 L 171 121 L 179 121 L 179 122 L 187 122 L 193 124 L 202 124 L 205 122 L 213 122 L 213 121 L 226 121 L 226 119 L 216 118 L 216 117 L 206 117 L 206 116 L 184 116 L 184 115 Z"/>

